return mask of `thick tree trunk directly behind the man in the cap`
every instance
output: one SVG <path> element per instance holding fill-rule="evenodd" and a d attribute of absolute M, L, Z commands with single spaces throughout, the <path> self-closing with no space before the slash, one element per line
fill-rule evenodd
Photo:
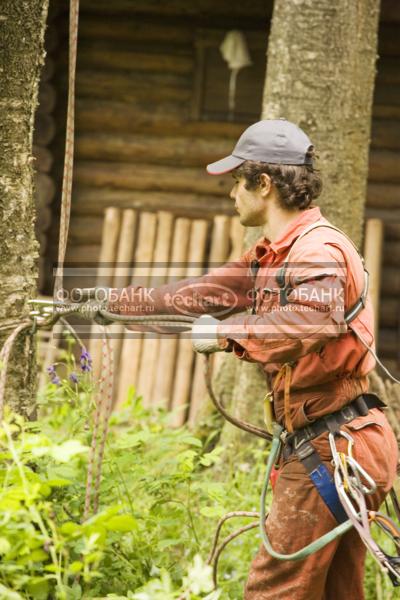
<path fill-rule="evenodd" d="M 379 0 L 275 0 L 268 45 L 262 118 L 285 117 L 310 136 L 324 183 L 318 204 L 356 243 L 366 196 L 378 13 Z M 266 387 L 257 365 L 239 364 L 235 415 L 259 418 Z M 225 442 L 248 442 L 231 425 L 224 429 Z"/>

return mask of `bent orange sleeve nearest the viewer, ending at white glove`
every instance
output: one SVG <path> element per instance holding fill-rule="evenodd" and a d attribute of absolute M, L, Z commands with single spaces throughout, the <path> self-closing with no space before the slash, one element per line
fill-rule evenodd
<path fill-rule="evenodd" d="M 286 270 L 286 283 L 286 305 L 266 303 L 263 311 L 261 300 L 257 315 L 231 317 L 221 323 L 221 346 L 250 362 L 292 362 L 347 331 L 346 267 L 338 248 L 320 244 L 316 251 L 308 244 L 296 249 Z M 279 289 L 274 291 L 278 294 Z"/>

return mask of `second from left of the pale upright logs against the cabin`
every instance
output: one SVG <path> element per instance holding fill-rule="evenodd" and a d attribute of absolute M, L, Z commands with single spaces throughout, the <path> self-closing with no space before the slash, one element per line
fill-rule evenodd
<path fill-rule="evenodd" d="M 137 212 L 126 209 L 122 212 L 121 230 L 118 241 L 117 259 L 115 262 L 112 286 L 123 288 L 129 285 L 132 273 L 131 263 L 136 239 Z M 113 323 L 110 326 L 112 351 L 114 353 L 114 365 L 118 371 L 122 341 L 124 338 L 124 325 Z M 116 401 L 116 390 L 114 390 L 114 403 Z"/>

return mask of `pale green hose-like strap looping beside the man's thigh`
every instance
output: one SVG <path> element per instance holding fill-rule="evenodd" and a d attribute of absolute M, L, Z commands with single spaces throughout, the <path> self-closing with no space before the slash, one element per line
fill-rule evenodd
<path fill-rule="evenodd" d="M 293 552 L 292 554 L 280 554 L 279 552 L 276 552 L 272 548 L 271 542 L 268 539 L 268 535 L 267 535 L 267 532 L 265 529 L 265 520 L 267 518 L 267 515 L 265 512 L 265 499 L 267 496 L 271 471 L 272 471 L 272 468 L 279 456 L 279 450 L 280 450 L 280 445 L 281 445 L 280 435 L 281 435 L 282 431 L 283 431 L 283 428 L 280 425 L 278 425 L 278 424 L 274 425 L 274 435 L 273 435 L 272 442 L 271 442 L 271 452 L 269 454 L 268 461 L 267 461 L 267 470 L 266 470 L 265 480 L 264 480 L 262 493 L 261 493 L 260 533 L 261 533 L 261 538 L 262 538 L 262 541 L 263 541 L 266 551 L 273 558 L 277 558 L 278 560 L 303 560 L 304 558 L 307 558 L 307 556 L 309 556 L 310 554 L 313 554 L 314 552 L 321 550 L 321 548 L 324 548 L 324 546 L 329 544 L 329 542 L 332 542 L 334 539 L 336 539 L 340 535 L 343 535 L 343 533 L 345 533 L 346 531 L 351 529 L 353 525 L 350 520 L 345 521 L 344 523 L 341 523 L 334 529 L 331 529 L 331 531 L 328 531 L 328 533 L 325 533 L 325 535 L 321 536 L 317 540 L 314 540 L 313 542 L 311 542 L 311 544 L 308 544 L 308 546 L 304 546 L 304 548 L 301 548 L 301 550 L 298 550 L 297 552 Z"/>

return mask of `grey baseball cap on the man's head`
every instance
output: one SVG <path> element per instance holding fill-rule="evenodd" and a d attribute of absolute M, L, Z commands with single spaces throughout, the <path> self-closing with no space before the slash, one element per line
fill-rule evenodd
<path fill-rule="evenodd" d="M 286 119 L 265 119 L 250 125 L 240 136 L 232 154 L 207 165 L 210 175 L 222 175 L 246 160 L 283 164 L 312 165 L 306 156 L 310 138 Z"/>

